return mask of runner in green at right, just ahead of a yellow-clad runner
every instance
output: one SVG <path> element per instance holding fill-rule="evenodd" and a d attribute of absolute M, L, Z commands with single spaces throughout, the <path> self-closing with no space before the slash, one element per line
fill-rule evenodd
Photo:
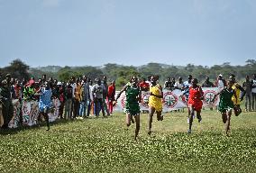
<path fill-rule="evenodd" d="M 233 83 L 228 81 L 227 87 L 224 87 L 212 99 L 212 102 L 214 102 L 215 97 L 220 95 L 218 110 L 222 114 L 223 123 L 225 124 L 226 136 L 229 136 L 229 132 L 230 132 L 230 119 L 231 119 L 231 114 L 233 109 L 232 97 L 235 96 L 235 91 L 233 90 L 232 86 L 233 86 Z"/>

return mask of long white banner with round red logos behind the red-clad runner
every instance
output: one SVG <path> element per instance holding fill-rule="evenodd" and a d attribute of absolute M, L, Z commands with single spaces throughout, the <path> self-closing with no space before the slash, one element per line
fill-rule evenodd
<path fill-rule="evenodd" d="M 214 107 L 218 105 L 219 98 L 216 96 L 215 101 L 212 103 L 210 102 L 215 94 L 218 92 L 217 87 L 202 87 L 204 92 L 204 100 L 203 107 Z M 119 91 L 116 91 L 115 97 Z M 173 110 L 178 110 L 180 108 L 187 107 L 187 97 L 181 96 L 183 92 L 179 89 L 175 89 L 173 91 L 170 90 L 163 90 L 163 98 L 162 98 L 162 107 L 163 112 L 169 112 Z M 148 111 L 149 110 L 149 97 L 150 92 L 142 92 L 142 103 L 140 103 L 141 111 Z M 117 100 L 116 105 L 114 106 L 114 111 L 125 111 L 125 93 L 123 92 L 120 98 Z"/>

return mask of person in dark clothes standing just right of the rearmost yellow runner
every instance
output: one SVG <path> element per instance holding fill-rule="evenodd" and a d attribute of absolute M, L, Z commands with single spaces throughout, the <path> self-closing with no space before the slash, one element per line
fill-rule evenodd
<path fill-rule="evenodd" d="M 242 83 L 242 87 L 245 90 L 245 111 L 251 112 L 251 81 L 249 76 L 245 77 L 245 81 Z"/>

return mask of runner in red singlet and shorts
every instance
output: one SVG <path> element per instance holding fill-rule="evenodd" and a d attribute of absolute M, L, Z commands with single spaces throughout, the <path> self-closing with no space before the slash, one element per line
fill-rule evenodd
<path fill-rule="evenodd" d="M 201 109 L 202 109 L 202 105 L 203 102 L 202 100 L 204 99 L 204 93 L 201 87 L 197 86 L 198 80 L 197 78 L 193 78 L 192 81 L 192 86 L 189 87 L 189 90 L 187 90 L 185 93 L 183 93 L 183 95 L 185 95 L 187 92 L 189 92 L 189 96 L 188 96 L 188 102 L 187 102 L 187 106 L 188 106 L 188 113 L 190 113 L 188 115 L 188 133 L 191 133 L 191 128 L 192 128 L 192 123 L 193 123 L 193 118 L 195 115 L 195 111 L 197 112 L 197 119 L 198 119 L 198 123 L 200 123 L 202 121 L 202 117 L 201 117 Z M 181 96 L 183 96 L 181 95 Z"/>

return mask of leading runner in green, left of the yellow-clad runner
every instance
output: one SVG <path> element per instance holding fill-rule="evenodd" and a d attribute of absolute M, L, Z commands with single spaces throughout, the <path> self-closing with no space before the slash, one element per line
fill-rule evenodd
<path fill-rule="evenodd" d="M 125 102 L 125 112 L 126 112 L 126 125 L 127 128 L 131 125 L 131 121 L 133 122 L 133 116 L 136 122 L 135 136 L 134 140 L 137 139 L 138 133 L 140 131 L 140 105 L 139 98 L 141 98 L 140 87 L 138 87 L 138 78 L 131 77 L 130 82 L 128 82 L 120 93 L 116 96 L 116 100 L 121 96 L 121 94 L 125 91 L 126 102 Z M 133 122 L 134 123 L 134 122 Z"/>

